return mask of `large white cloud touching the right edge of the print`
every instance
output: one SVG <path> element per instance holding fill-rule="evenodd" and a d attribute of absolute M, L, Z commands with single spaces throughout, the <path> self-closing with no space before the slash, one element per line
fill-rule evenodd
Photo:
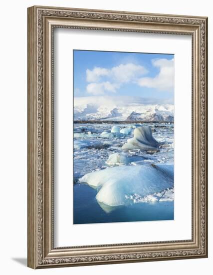
<path fill-rule="evenodd" d="M 160 68 L 155 77 L 142 77 L 138 79 L 140 86 L 172 91 L 174 87 L 174 59 L 153 59 L 152 64 Z"/>

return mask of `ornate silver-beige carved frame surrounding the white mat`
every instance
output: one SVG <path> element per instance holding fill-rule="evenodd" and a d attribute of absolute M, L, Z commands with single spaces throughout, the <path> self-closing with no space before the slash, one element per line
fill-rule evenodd
<path fill-rule="evenodd" d="M 192 35 L 192 239 L 54 247 L 53 28 Z M 28 8 L 28 266 L 124 263 L 208 256 L 208 18 L 109 10 Z"/>

